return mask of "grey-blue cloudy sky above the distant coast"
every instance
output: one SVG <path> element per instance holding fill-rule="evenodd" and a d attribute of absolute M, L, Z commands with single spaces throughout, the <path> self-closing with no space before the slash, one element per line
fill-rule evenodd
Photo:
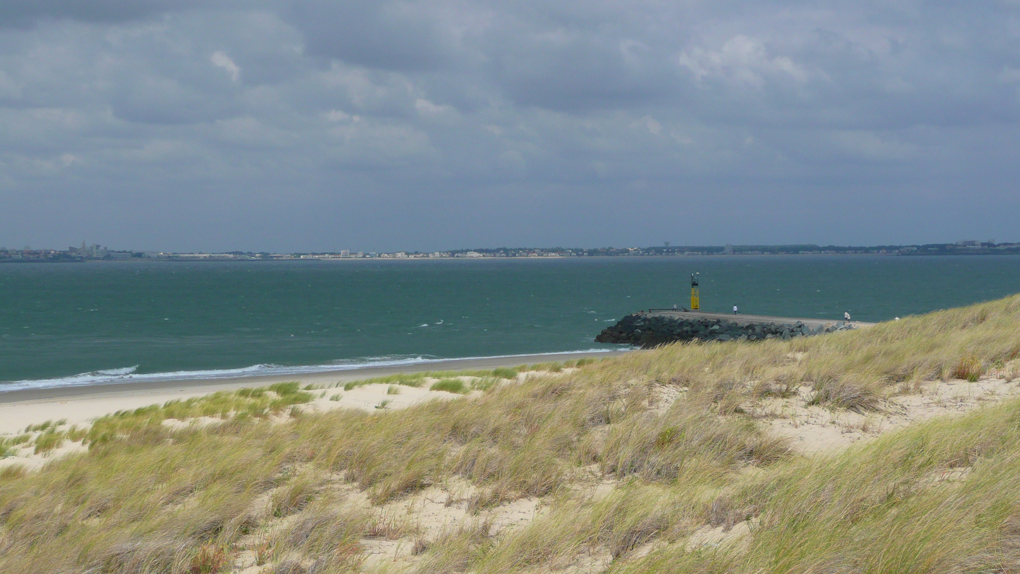
<path fill-rule="evenodd" d="M 0 245 L 1020 241 L 1020 2 L 0 3 Z"/>

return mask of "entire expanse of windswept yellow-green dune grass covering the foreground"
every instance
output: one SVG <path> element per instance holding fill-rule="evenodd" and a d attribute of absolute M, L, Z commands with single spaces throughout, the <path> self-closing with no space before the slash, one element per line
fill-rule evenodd
<path fill-rule="evenodd" d="M 89 451 L 40 472 L 0 470 L 0 571 L 227 572 L 248 549 L 268 572 L 352 572 L 364 566 L 364 540 L 378 538 L 413 546 L 409 568 L 420 573 L 1013 571 L 1020 403 L 814 459 L 745 413 L 800 386 L 818 404 L 866 412 L 925 380 L 1011 378 L 1018 326 L 1014 296 L 822 337 L 550 365 L 546 377 L 373 380 L 488 389 L 399 412 L 280 423 L 317 396 L 291 383 L 117 413 L 88 434 L 51 424 L 34 431 L 37 447 L 78 433 Z M 678 398 L 661 404 L 660 388 Z M 164 424 L 199 417 L 207 424 Z M 614 487 L 586 493 L 578 485 L 592 476 Z M 453 478 L 475 489 L 478 520 L 429 537 L 341 488 L 377 506 Z M 545 508 L 521 527 L 494 535 L 477 514 L 521 497 Z M 688 549 L 695 531 L 737 524 L 753 526 L 740 543 Z M 630 558 L 652 542 L 661 547 Z"/>

